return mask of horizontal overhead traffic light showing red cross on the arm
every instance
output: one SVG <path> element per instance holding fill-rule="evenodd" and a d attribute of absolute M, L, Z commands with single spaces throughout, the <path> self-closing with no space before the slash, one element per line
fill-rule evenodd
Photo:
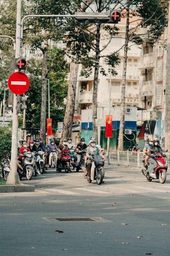
<path fill-rule="evenodd" d="M 76 23 L 118 23 L 121 13 L 119 11 L 110 11 L 110 13 L 95 12 L 75 12 Z M 92 17 L 90 17 L 92 16 Z"/>

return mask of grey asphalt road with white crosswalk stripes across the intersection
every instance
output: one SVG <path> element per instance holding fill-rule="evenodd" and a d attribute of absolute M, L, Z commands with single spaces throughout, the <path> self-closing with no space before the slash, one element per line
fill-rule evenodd
<path fill-rule="evenodd" d="M 170 175 L 160 184 L 147 182 L 140 169 L 105 166 L 104 181 L 49 169 L 22 180 L 35 193 L 1 193 L 0 254 L 169 255 Z M 61 217 L 93 219 L 55 219 Z"/>

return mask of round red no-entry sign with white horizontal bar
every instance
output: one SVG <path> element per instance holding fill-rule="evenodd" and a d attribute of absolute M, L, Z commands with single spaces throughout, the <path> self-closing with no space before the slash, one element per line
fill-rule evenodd
<path fill-rule="evenodd" d="M 27 75 L 22 72 L 15 72 L 8 79 L 8 87 L 15 94 L 26 93 L 30 85 Z"/>

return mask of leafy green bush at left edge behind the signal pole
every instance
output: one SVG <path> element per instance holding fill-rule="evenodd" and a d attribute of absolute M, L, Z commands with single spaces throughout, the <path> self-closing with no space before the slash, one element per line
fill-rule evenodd
<path fill-rule="evenodd" d="M 12 131 L 7 127 L 0 127 L 0 166 L 3 167 L 11 159 Z"/>

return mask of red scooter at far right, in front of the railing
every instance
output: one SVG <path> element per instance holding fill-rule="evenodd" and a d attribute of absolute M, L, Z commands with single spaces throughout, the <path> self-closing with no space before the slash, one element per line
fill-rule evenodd
<path fill-rule="evenodd" d="M 168 152 L 168 150 L 166 150 L 165 152 Z M 151 150 L 151 153 L 153 153 L 151 156 L 156 160 L 156 165 L 153 169 L 154 177 L 151 177 L 148 171 L 150 157 L 147 158 L 144 165 L 146 169 L 142 169 L 142 173 L 147 177 L 147 181 L 151 182 L 152 180 L 159 179 L 159 182 L 163 184 L 166 181 L 166 172 L 168 169 L 168 162 L 166 160 L 167 156 L 162 153 L 154 153 L 153 150 Z"/>

